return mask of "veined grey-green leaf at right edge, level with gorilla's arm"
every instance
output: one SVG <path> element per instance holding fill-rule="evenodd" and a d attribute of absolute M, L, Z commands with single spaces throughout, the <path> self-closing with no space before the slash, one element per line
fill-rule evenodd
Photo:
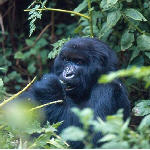
<path fill-rule="evenodd" d="M 136 116 L 144 116 L 150 114 L 150 100 L 143 100 L 139 102 L 133 108 L 133 112 Z"/>

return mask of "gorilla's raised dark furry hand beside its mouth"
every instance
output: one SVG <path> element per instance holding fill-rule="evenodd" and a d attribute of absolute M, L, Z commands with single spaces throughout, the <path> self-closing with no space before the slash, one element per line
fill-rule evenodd
<path fill-rule="evenodd" d="M 59 78 L 54 74 L 46 74 L 32 87 L 34 99 L 42 103 L 63 100 L 65 92 Z"/>

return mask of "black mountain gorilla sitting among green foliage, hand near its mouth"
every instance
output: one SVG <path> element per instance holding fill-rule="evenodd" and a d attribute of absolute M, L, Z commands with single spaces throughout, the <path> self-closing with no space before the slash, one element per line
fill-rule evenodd
<path fill-rule="evenodd" d="M 45 107 L 46 120 L 51 124 L 63 121 L 58 128 L 80 126 L 72 107 L 91 108 L 97 117 L 105 120 L 118 109 L 124 109 L 124 119 L 129 116 L 130 104 L 126 90 L 117 79 L 112 83 L 99 84 L 98 78 L 117 70 L 116 54 L 103 42 L 95 38 L 74 38 L 64 44 L 54 62 L 52 73 L 25 92 L 22 97 L 29 97 L 41 104 L 55 100 L 63 103 Z M 100 137 L 96 135 L 95 143 Z M 95 144 L 96 145 L 96 144 Z M 82 143 L 71 143 L 72 148 L 83 148 Z"/>

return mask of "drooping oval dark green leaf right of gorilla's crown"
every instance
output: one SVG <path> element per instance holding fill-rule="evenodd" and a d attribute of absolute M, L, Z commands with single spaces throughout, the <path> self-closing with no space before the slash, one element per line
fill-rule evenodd
<path fill-rule="evenodd" d="M 130 48 L 134 41 L 134 34 L 129 33 L 129 30 L 126 30 L 121 37 L 121 50 L 126 50 Z"/>

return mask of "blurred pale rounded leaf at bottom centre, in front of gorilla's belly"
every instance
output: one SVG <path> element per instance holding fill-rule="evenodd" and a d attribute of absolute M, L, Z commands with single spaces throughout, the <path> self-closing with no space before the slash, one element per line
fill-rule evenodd
<path fill-rule="evenodd" d="M 63 130 L 61 137 L 64 140 L 70 140 L 70 141 L 82 141 L 84 137 L 86 136 L 86 133 L 75 126 L 70 126 Z"/>

